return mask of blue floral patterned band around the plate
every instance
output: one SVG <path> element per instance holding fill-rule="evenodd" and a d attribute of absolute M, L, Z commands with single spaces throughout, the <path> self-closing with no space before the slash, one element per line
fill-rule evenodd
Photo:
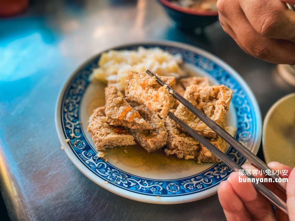
<path fill-rule="evenodd" d="M 233 91 L 232 103 L 237 113 L 237 140 L 245 146 L 252 146 L 256 134 L 256 116 L 253 104 L 246 91 L 237 80 L 222 67 L 196 52 L 174 46 L 142 45 L 143 47 L 160 47 L 172 54 L 179 53 L 186 63 L 195 65 L 206 71 L 220 84 L 226 85 Z M 121 47 L 116 50 L 134 50 L 138 46 Z M 86 88 L 89 85 L 89 75 L 93 68 L 98 66 L 99 56 L 94 58 L 68 83 L 65 93 L 62 95 L 60 118 L 65 138 L 70 138 L 70 148 L 76 157 L 96 176 L 108 181 L 119 188 L 145 195 L 156 196 L 182 196 L 204 191 L 218 185 L 227 179 L 232 170 L 223 162 L 216 163 L 211 168 L 191 177 L 175 180 L 155 180 L 138 177 L 122 171 L 104 159 L 96 156 L 96 149 L 92 147 L 83 134 L 79 123 L 79 107 Z M 226 153 L 238 164 L 245 162 L 245 158 L 234 148 Z"/>

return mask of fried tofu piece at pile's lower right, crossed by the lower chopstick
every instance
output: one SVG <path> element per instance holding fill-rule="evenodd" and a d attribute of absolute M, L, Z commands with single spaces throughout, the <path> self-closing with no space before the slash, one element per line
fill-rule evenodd
<path fill-rule="evenodd" d="M 215 138 L 207 138 L 211 144 L 216 146 L 219 150 L 224 152 L 226 148 L 226 143 L 224 139 L 222 139 L 220 136 L 216 136 Z M 200 144 L 200 148 L 198 150 L 198 153 L 196 155 L 196 160 L 200 164 L 201 162 L 221 162 L 220 159 L 218 159 L 217 156 L 212 154 L 211 151 L 209 151 L 206 147 L 204 147 L 202 144 Z"/>

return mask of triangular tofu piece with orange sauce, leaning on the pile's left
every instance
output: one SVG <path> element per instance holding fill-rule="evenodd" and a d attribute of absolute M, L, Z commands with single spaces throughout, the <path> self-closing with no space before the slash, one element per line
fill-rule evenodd
<path fill-rule="evenodd" d="M 115 86 L 105 88 L 106 121 L 114 126 L 126 126 L 132 129 L 146 130 L 151 126 L 124 99 Z"/>

